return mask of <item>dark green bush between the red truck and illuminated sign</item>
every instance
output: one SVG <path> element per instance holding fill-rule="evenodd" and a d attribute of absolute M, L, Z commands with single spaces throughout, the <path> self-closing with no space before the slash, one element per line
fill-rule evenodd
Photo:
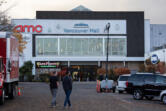
<path fill-rule="evenodd" d="M 19 69 L 20 77 L 27 78 L 28 81 L 32 81 L 32 69 L 33 63 L 31 61 L 24 62 L 24 65 Z"/>

